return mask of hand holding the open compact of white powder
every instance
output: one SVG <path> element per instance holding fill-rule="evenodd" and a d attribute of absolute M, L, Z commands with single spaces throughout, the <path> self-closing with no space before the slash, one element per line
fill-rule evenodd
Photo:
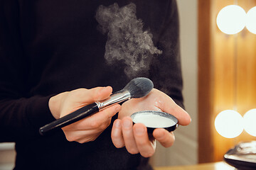
<path fill-rule="evenodd" d="M 132 118 L 129 116 L 137 111 L 164 111 L 174 115 L 179 125 L 188 125 L 191 122 L 191 117 L 186 111 L 157 89 L 153 89 L 144 98 L 133 98 L 123 103 L 119 118 L 114 121 L 112 128 L 112 142 L 117 148 L 125 146 L 129 153 L 140 153 L 143 157 L 151 157 L 156 145 L 155 140 L 149 139 L 145 125 L 142 123 L 132 125 Z M 173 132 L 162 128 L 154 130 L 153 137 L 164 147 L 171 147 L 175 140 Z"/>

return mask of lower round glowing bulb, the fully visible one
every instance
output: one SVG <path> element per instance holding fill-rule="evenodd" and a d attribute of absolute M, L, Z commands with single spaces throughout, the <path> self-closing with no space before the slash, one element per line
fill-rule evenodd
<path fill-rule="evenodd" d="M 223 137 L 238 137 L 243 130 L 242 115 L 233 110 L 220 112 L 215 118 L 215 129 Z"/>

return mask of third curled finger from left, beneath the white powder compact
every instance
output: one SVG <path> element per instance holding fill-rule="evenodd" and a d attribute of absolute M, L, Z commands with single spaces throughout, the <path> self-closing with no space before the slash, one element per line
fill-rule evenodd
<path fill-rule="evenodd" d="M 145 125 L 137 123 L 133 127 L 134 137 L 142 157 L 151 157 L 155 152 L 155 145 L 149 140 L 149 135 L 146 131 Z"/>

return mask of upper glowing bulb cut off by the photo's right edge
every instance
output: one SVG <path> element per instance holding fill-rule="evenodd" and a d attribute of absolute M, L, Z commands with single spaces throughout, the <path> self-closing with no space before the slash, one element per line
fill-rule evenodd
<path fill-rule="evenodd" d="M 247 12 L 245 26 L 251 33 L 256 34 L 256 6 Z"/>

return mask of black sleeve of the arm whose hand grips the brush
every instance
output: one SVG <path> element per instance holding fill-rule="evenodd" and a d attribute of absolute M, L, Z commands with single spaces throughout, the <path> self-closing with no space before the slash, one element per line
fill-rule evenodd
<path fill-rule="evenodd" d="M 18 2 L 0 1 L 0 142 L 38 136 L 54 120 L 50 96 L 29 96 L 29 60 L 22 49 Z"/>

